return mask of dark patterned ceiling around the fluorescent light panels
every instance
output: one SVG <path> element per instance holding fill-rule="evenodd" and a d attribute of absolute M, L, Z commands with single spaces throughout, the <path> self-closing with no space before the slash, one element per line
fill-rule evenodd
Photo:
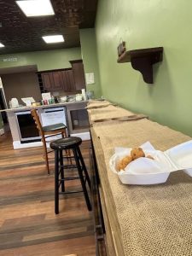
<path fill-rule="evenodd" d="M 51 0 L 55 15 L 26 17 L 15 0 L 0 0 L 1 54 L 63 49 L 80 45 L 79 28 L 94 27 L 97 0 Z M 45 44 L 42 36 L 62 34 L 64 43 Z"/>

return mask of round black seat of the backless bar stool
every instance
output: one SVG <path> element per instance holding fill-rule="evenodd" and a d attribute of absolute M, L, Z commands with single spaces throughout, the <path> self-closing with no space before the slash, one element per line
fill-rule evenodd
<path fill-rule="evenodd" d="M 52 149 L 69 149 L 79 146 L 82 143 L 80 137 L 63 137 L 50 143 Z"/>

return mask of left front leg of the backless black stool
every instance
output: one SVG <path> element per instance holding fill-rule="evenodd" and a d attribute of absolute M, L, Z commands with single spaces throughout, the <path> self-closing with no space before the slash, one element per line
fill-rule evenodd
<path fill-rule="evenodd" d="M 55 150 L 55 214 L 59 213 L 59 152 Z"/>

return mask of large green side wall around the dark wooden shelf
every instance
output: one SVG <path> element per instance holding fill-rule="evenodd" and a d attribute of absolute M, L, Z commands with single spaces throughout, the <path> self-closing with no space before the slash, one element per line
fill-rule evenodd
<path fill-rule="evenodd" d="M 150 119 L 192 136 L 192 2 L 100 0 L 96 44 L 102 95 Z M 164 47 L 154 84 L 131 63 L 117 63 L 117 46 Z"/>

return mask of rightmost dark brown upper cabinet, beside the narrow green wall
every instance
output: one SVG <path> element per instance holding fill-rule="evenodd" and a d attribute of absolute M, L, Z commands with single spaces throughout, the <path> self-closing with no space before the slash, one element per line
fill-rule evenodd
<path fill-rule="evenodd" d="M 82 60 L 70 61 L 76 90 L 85 89 L 84 64 Z"/>

